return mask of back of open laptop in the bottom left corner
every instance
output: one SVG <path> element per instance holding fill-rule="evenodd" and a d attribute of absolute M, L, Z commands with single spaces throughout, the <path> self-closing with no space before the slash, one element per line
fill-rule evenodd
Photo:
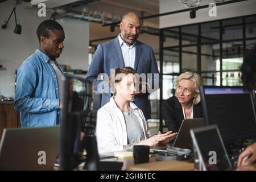
<path fill-rule="evenodd" d="M 52 170 L 59 136 L 59 126 L 3 130 L 0 170 Z"/>

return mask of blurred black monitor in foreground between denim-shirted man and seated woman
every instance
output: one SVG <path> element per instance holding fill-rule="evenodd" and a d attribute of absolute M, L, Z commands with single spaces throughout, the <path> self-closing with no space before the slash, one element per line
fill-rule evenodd
<path fill-rule="evenodd" d="M 61 110 L 60 169 L 71 170 L 79 163 L 84 148 L 81 131 L 93 136 L 97 112 L 93 108 L 92 82 L 85 78 L 65 75 Z"/>

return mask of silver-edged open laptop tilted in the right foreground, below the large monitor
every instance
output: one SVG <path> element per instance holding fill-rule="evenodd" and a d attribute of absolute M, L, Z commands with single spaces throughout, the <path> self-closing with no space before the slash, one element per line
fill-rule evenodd
<path fill-rule="evenodd" d="M 222 141 L 217 125 L 192 129 L 195 160 L 199 159 L 199 170 L 232 170 L 229 156 Z"/>

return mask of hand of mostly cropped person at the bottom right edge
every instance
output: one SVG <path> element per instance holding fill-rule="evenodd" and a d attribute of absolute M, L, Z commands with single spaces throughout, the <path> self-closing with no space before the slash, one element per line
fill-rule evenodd
<path fill-rule="evenodd" d="M 238 158 L 237 167 L 248 166 L 254 163 L 256 160 L 256 143 L 248 146 Z"/>

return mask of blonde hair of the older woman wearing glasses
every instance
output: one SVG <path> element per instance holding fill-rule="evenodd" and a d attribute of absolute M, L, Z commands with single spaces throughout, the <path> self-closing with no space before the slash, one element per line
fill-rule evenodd
<path fill-rule="evenodd" d="M 180 76 L 176 78 L 175 86 L 183 79 L 193 81 L 194 83 L 193 89 L 196 93 L 199 93 L 197 94 L 197 97 L 194 98 L 193 105 L 199 104 L 199 102 L 201 101 L 199 88 L 201 85 L 203 85 L 203 78 L 196 72 L 184 72 L 184 73 L 181 73 Z M 176 93 L 175 93 L 175 96 L 176 96 Z"/>

